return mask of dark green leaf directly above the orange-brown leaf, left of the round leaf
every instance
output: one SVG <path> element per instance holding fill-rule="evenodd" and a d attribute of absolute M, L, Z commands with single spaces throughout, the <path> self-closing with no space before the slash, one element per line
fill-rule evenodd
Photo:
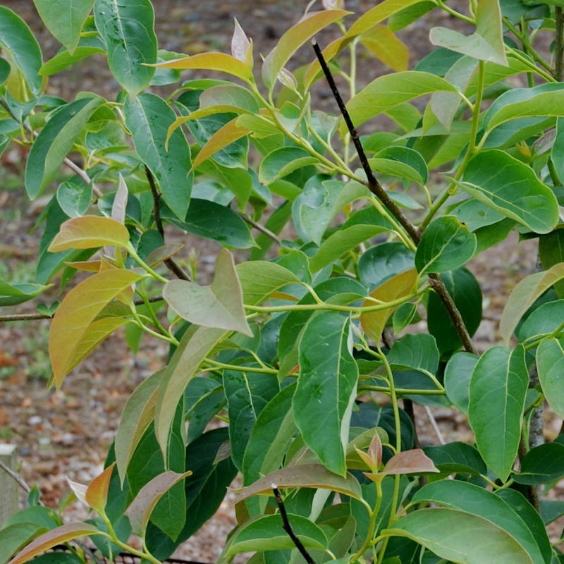
<path fill-rule="evenodd" d="M 374 245 L 358 259 L 360 281 L 371 289 L 377 288 L 393 276 L 411 270 L 415 266 L 413 257 L 413 251 L 403 243 Z"/>

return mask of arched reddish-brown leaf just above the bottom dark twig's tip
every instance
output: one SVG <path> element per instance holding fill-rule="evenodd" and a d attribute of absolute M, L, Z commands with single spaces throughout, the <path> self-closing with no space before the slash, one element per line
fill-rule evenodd
<path fill-rule="evenodd" d="M 360 485 L 353 474 L 342 477 L 329 472 L 320 464 L 304 464 L 287 466 L 271 472 L 250 486 L 235 491 L 235 499 L 241 501 L 257 494 L 271 495 L 272 484 L 276 484 L 279 489 L 295 487 L 330 489 L 355 499 L 362 498 Z"/>

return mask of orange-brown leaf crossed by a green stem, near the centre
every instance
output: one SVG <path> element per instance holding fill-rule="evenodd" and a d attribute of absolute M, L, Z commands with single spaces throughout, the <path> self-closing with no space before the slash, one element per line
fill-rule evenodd
<path fill-rule="evenodd" d="M 401 300 L 413 292 L 416 283 L 417 271 L 415 269 L 407 270 L 402 274 L 393 276 L 393 278 L 390 278 L 376 288 L 370 294 L 372 300 L 364 300 L 362 305 L 364 307 L 376 305 L 377 302 L 375 300 L 384 302 L 384 304 Z M 383 309 L 377 309 L 374 312 L 363 313 L 360 316 L 360 323 L 364 332 L 375 341 L 380 341 L 382 331 L 384 331 L 389 317 L 398 305 L 400 304 L 396 303 Z"/>

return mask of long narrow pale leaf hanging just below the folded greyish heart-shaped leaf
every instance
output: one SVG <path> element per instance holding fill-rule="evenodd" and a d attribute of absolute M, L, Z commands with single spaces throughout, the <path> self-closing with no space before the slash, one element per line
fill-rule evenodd
<path fill-rule="evenodd" d="M 179 398 L 183 396 L 188 382 L 198 373 L 204 358 L 225 336 L 223 329 L 191 326 L 168 362 L 159 386 L 154 416 L 155 435 L 164 454 L 168 449 L 168 435 Z"/>

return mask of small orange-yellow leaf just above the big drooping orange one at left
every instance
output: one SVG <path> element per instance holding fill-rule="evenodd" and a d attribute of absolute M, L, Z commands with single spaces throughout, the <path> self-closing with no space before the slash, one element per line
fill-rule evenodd
<path fill-rule="evenodd" d="M 47 250 L 61 252 L 104 245 L 125 247 L 128 243 L 129 232 L 122 223 L 109 217 L 82 216 L 65 221 Z"/>

